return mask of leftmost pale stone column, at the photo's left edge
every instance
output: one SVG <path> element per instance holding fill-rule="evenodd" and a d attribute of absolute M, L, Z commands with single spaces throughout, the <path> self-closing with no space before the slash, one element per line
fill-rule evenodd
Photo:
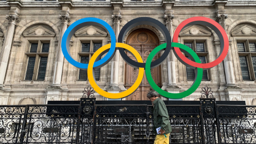
<path fill-rule="evenodd" d="M 7 64 L 12 47 L 12 39 L 15 29 L 15 24 L 18 22 L 19 17 L 15 14 L 6 15 L 6 19 L 9 20 L 9 26 L 7 29 L 7 35 L 5 36 L 3 49 L 0 54 L 0 87 L 3 87 L 4 78 L 7 70 Z"/>

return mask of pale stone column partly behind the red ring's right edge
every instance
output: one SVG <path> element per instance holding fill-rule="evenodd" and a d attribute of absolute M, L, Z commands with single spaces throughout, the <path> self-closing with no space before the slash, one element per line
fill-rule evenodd
<path fill-rule="evenodd" d="M 217 14 L 216 21 L 219 22 L 221 27 L 225 29 L 227 33 L 227 28 L 226 28 L 226 19 L 228 18 L 227 14 Z M 231 54 L 230 54 L 230 47 L 228 50 L 227 57 L 223 60 L 224 62 L 224 67 L 225 67 L 225 73 L 226 73 L 226 82 L 228 87 L 234 87 L 235 85 L 235 76 L 234 76 L 234 70 L 233 70 L 233 65 L 231 61 Z"/>

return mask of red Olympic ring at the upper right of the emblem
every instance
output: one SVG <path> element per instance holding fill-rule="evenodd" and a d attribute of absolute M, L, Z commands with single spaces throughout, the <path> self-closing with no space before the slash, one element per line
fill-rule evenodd
<path fill-rule="evenodd" d="M 218 22 L 216 22 L 210 18 L 205 18 L 205 17 L 189 18 L 189 19 L 181 22 L 180 25 L 175 30 L 174 35 L 173 35 L 173 42 L 178 43 L 178 37 L 179 37 L 180 31 L 183 28 L 191 25 L 191 23 L 193 23 L 195 21 L 210 23 L 211 25 L 213 25 L 215 28 L 217 28 L 220 31 L 221 35 L 223 36 L 224 44 L 223 44 L 223 50 L 222 50 L 222 52 L 220 51 L 219 57 L 216 60 L 209 62 L 209 63 L 197 63 L 197 62 L 191 61 L 188 58 L 186 58 L 185 55 L 183 55 L 182 52 L 180 51 L 179 47 L 174 47 L 175 53 L 178 55 L 178 57 L 183 62 L 185 62 L 185 63 L 187 63 L 187 65 L 190 65 L 195 68 L 197 67 L 197 68 L 209 69 L 214 66 L 217 66 L 221 61 L 223 61 L 225 59 L 226 55 L 228 54 L 228 49 L 229 49 L 229 40 L 228 40 L 227 33 Z M 195 24 L 197 24 L 197 23 L 195 23 Z M 192 25 L 195 25 L 195 24 L 192 24 Z M 200 25 L 200 23 L 198 23 L 198 24 Z M 216 31 L 215 31 L 215 33 L 216 33 Z M 220 38 L 220 36 L 219 36 L 219 38 Z"/>

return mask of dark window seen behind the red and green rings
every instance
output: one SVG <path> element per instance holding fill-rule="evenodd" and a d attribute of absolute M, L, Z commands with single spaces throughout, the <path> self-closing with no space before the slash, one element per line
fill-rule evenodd
<path fill-rule="evenodd" d="M 193 51 L 195 51 L 201 60 L 201 63 L 206 63 L 207 61 L 207 49 L 206 43 L 203 40 L 184 40 L 184 45 L 190 47 Z M 187 55 L 186 57 L 190 59 Z M 209 81 L 208 70 L 203 71 L 203 81 Z M 194 81 L 195 79 L 195 70 L 189 67 L 186 67 L 187 80 Z"/>

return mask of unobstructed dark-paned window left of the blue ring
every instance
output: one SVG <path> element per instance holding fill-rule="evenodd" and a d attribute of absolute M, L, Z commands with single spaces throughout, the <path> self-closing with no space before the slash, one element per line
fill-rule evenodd
<path fill-rule="evenodd" d="M 28 65 L 25 80 L 44 81 L 50 42 L 30 41 L 28 47 L 28 53 L 26 53 L 28 56 Z"/>

